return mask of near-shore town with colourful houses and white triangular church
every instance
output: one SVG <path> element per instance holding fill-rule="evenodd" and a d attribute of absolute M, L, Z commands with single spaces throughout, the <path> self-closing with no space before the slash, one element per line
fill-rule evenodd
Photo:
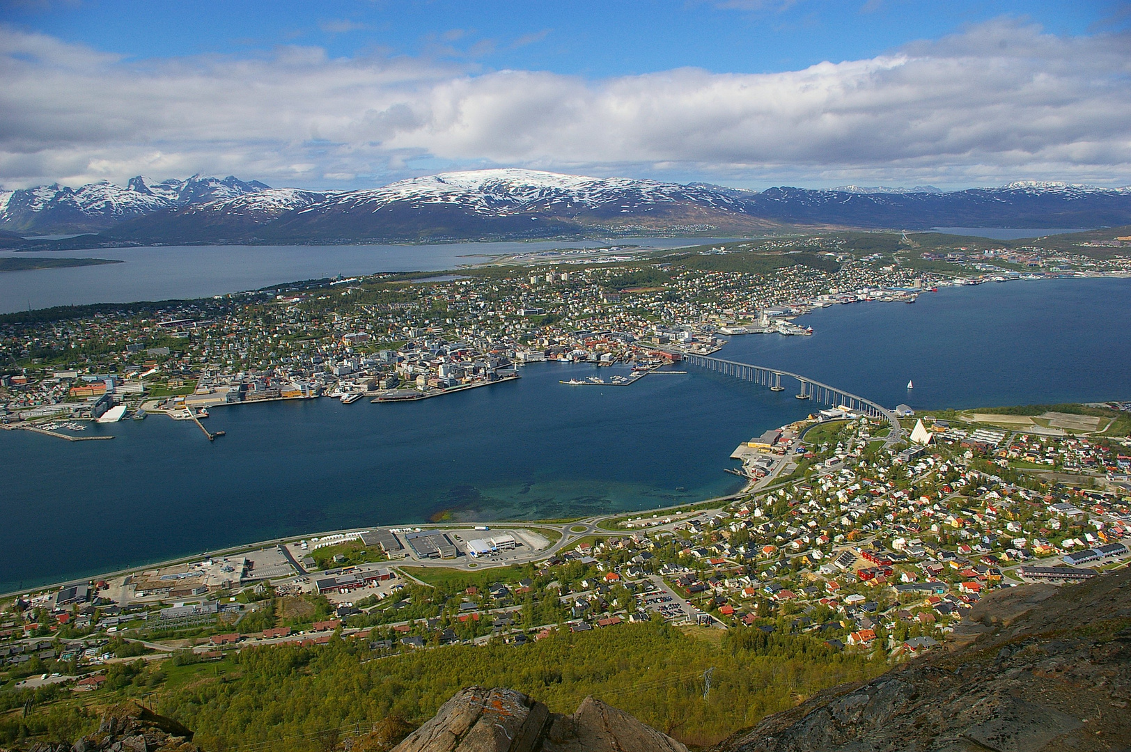
<path fill-rule="evenodd" d="M 898 662 L 990 590 L 1126 565 L 1131 404 L 898 412 L 893 446 L 884 418 L 844 408 L 743 442 L 746 487 L 690 507 L 343 530 L 20 593 L 0 619 L 6 683 L 96 691 L 138 658 L 521 646 L 656 620 Z"/>

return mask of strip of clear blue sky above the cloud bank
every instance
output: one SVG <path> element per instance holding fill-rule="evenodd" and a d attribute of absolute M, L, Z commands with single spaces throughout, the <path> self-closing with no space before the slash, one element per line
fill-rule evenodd
<path fill-rule="evenodd" d="M 586 77 L 697 67 L 797 70 L 881 54 L 1000 16 L 1053 34 L 1119 24 L 1121 3 L 1080 0 L 709 2 L 49 2 L 17 3 L 9 21 L 132 59 L 253 54 L 318 45 L 331 57 L 375 50 L 472 61 L 486 69 Z"/>

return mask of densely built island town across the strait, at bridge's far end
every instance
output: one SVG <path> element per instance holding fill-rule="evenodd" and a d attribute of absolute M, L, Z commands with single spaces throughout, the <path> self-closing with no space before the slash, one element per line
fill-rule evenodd
<path fill-rule="evenodd" d="M 912 258 L 897 239 L 732 243 L 8 314 L 0 319 L 0 421 L 74 441 L 94 438 L 83 433 L 88 421 L 161 413 L 195 421 L 213 439 L 221 434 L 200 420 L 221 406 L 420 399 L 518 378 L 523 365 L 544 360 L 647 369 L 715 352 L 734 336 L 805 336 L 804 314 L 830 305 L 1129 271 L 1122 257 L 1027 247 L 960 245 Z"/>

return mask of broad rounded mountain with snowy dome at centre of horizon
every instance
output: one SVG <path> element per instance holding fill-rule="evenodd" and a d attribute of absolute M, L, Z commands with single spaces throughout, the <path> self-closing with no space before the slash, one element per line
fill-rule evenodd
<path fill-rule="evenodd" d="M 271 189 L 114 227 L 143 242 L 317 242 L 549 237 L 672 230 L 748 233 L 772 225 L 706 188 L 532 170 L 478 170 L 381 188 Z"/>

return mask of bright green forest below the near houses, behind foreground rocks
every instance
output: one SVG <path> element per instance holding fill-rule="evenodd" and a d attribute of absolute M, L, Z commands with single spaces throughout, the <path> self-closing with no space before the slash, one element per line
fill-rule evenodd
<path fill-rule="evenodd" d="M 663 623 L 558 632 L 525 646 L 385 655 L 364 639 L 334 639 L 198 660 L 185 652 L 149 665 L 115 664 L 107 671 L 113 681 L 97 692 L 28 693 L 32 711 L 9 712 L 0 743 L 28 734 L 74 741 L 96 727 L 101 707 L 135 697 L 192 728 L 209 752 L 265 744 L 323 752 L 342 734 L 388 716 L 423 723 L 460 688 L 482 684 L 520 690 L 558 712 L 572 712 L 592 694 L 688 744 L 706 745 L 821 689 L 887 668 L 883 660 L 835 652 L 808 634 L 685 634 Z"/>

